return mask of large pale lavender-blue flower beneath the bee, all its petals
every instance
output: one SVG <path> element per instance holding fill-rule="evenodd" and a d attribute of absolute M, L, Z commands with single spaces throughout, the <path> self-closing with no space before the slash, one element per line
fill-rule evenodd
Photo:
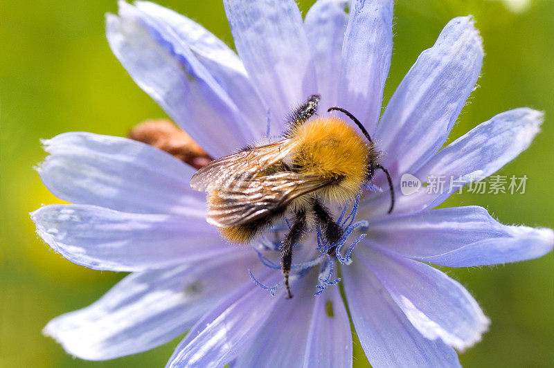
<path fill-rule="evenodd" d="M 440 149 L 481 70 L 481 39 L 470 17 L 445 26 L 379 117 L 391 62 L 391 1 L 354 1 L 346 13 L 344 1 L 319 0 L 304 20 L 294 1 L 224 4 L 238 56 L 190 19 L 146 2 L 120 3 L 119 14 L 107 18 L 109 44 L 212 158 L 259 141 L 268 115 L 271 131 L 283 132 L 290 107 L 319 93 L 325 109 L 342 107 L 363 123 L 393 187 L 375 171 L 370 183 L 382 192 L 362 189 L 355 211 L 330 213 L 341 238 L 352 234 L 343 239 L 355 243 L 348 257 L 320 258 L 324 231 L 301 239 L 290 268 L 294 297 L 286 300 L 286 288 L 274 289 L 273 298 L 248 277 L 251 270 L 259 284 L 280 283 L 278 252 L 271 250 L 279 224 L 251 247 L 229 246 L 206 223 L 204 194 L 189 187 L 193 167 L 126 138 L 69 133 L 46 140 L 50 156 L 39 174 L 75 204 L 33 212 L 39 234 L 75 263 L 132 273 L 88 308 L 55 318 L 45 333 L 90 360 L 145 351 L 188 331 L 169 366 L 348 367 L 350 320 L 339 290 L 314 296 L 340 267 L 352 323 L 373 366 L 459 365 L 454 349 L 479 341 L 489 321 L 461 284 L 429 264 L 540 257 L 552 250 L 553 232 L 504 226 L 475 206 L 434 210 L 449 196 L 449 183 L 438 193 L 395 196 L 389 214 L 391 192 L 406 172 L 465 183 L 477 171 L 494 174 L 530 145 L 542 113 L 500 113 Z M 323 111 L 314 121 L 321 117 L 331 119 Z M 355 223 L 363 239 L 346 234 Z"/>

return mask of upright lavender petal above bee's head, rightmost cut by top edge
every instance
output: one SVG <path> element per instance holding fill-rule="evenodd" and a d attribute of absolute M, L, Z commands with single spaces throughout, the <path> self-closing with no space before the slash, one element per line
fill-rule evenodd
<path fill-rule="evenodd" d="M 393 50 L 393 1 L 352 1 L 342 48 L 339 106 L 354 114 L 372 135 Z"/>

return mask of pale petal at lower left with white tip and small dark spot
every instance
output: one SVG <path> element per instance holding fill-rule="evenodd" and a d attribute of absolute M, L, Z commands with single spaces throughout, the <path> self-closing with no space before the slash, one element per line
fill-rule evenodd
<path fill-rule="evenodd" d="M 256 261 L 238 255 L 132 273 L 87 308 L 48 322 L 44 334 L 87 360 L 152 349 L 190 329 L 244 282 L 244 270 Z"/>

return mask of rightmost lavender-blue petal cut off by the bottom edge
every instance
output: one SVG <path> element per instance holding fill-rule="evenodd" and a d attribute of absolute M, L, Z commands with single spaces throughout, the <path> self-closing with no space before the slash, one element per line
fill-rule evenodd
<path fill-rule="evenodd" d="M 461 367 L 452 347 L 415 329 L 359 258 L 343 268 L 343 285 L 352 323 L 373 367 Z"/>

